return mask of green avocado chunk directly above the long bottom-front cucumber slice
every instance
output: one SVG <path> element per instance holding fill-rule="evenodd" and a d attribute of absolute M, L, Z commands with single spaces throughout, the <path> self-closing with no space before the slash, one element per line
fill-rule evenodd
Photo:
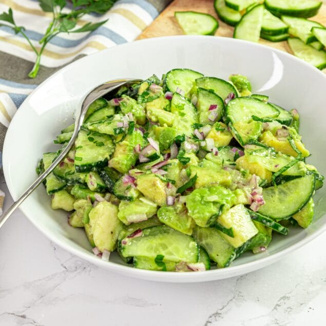
<path fill-rule="evenodd" d="M 157 212 L 159 220 L 175 230 L 191 236 L 195 227 L 194 220 L 187 214 L 184 206 L 162 206 Z"/>

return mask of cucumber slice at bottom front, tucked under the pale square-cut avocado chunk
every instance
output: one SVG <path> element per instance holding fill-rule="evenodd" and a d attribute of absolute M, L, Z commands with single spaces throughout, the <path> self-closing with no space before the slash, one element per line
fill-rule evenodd
<path fill-rule="evenodd" d="M 216 228 L 196 226 L 193 235 L 218 267 L 227 267 L 236 258 L 235 248 L 221 237 Z"/>

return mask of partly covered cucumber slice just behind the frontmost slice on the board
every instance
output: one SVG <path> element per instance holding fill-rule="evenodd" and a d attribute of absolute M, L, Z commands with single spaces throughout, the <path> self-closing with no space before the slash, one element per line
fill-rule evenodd
<path fill-rule="evenodd" d="M 299 37 L 305 44 L 317 41 L 316 37 L 311 32 L 313 27 L 323 27 L 321 24 L 309 21 L 305 18 L 282 16 L 282 21 L 289 25 L 289 34 Z"/>

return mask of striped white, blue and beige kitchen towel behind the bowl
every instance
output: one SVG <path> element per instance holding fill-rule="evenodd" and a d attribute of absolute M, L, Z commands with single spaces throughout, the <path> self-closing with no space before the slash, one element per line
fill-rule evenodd
<path fill-rule="evenodd" d="M 78 25 L 108 21 L 89 33 L 55 36 L 43 52 L 41 68 L 35 79 L 27 77 L 35 61 L 35 53 L 27 41 L 11 29 L 0 27 L 0 151 L 17 108 L 38 84 L 84 55 L 135 40 L 170 2 L 118 0 L 104 15 L 84 15 Z M 42 11 L 37 0 L 0 0 L 0 13 L 8 12 L 9 7 L 16 24 L 24 26 L 33 45 L 39 47 L 38 42 L 51 21 L 51 13 Z"/>

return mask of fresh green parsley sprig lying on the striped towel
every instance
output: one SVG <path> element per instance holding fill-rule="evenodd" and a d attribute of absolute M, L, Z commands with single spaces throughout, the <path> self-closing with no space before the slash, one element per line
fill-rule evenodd
<path fill-rule="evenodd" d="M 36 54 L 36 60 L 33 69 L 28 74 L 29 78 L 35 78 L 40 69 L 41 57 L 46 45 L 59 33 L 82 33 L 91 32 L 106 21 L 99 23 L 87 23 L 80 28 L 75 28 L 78 20 L 90 12 L 104 13 L 116 0 L 72 0 L 73 8 L 70 12 L 64 12 L 66 0 L 39 0 L 40 7 L 45 12 L 52 13 L 52 21 L 45 31 L 44 36 L 39 41 L 40 46 L 34 46 L 29 37 L 25 34 L 25 27 L 16 25 L 12 9 L 0 14 L 0 27 L 11 28 L 15 34 L 21 34 L 25 37 L 28 44 Z"/>

